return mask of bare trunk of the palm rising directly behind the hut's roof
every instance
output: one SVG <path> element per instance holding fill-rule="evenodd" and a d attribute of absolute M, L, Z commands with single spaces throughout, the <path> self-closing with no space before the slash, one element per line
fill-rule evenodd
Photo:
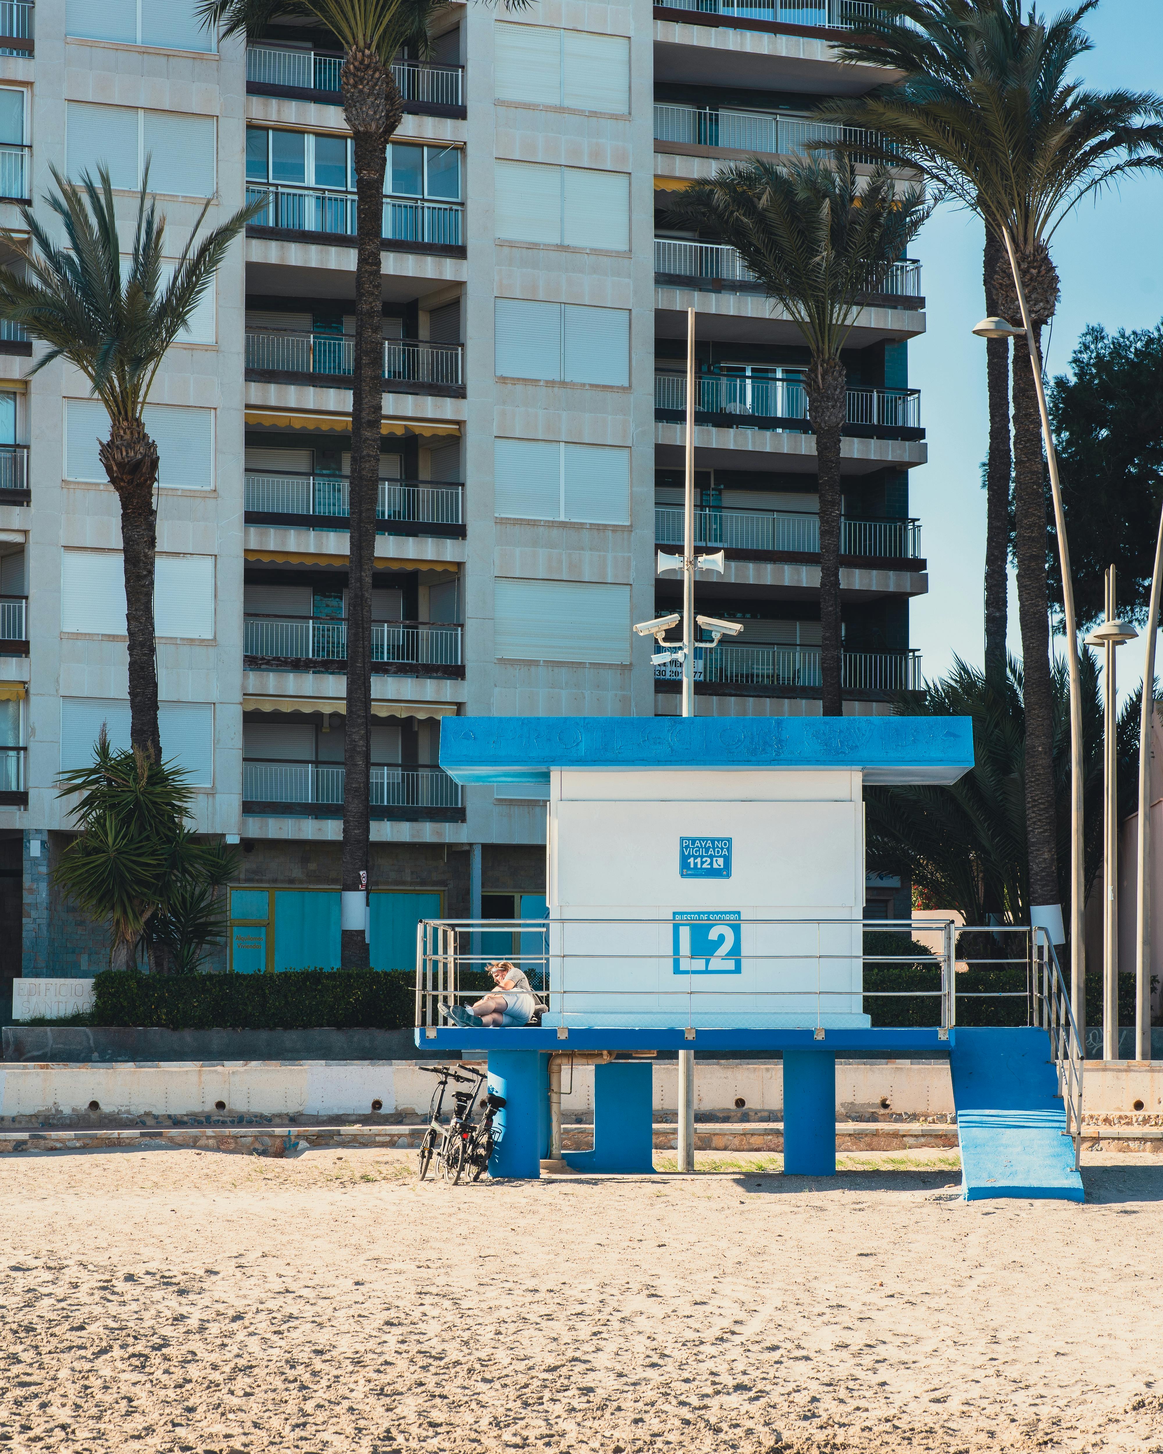
<path fill-rule="evenodd" d="M 820 490 L 820 680 L 824 717 L 842 717 L 840 430 L 848 413 L 845 366 L 813 359 L 805 378 Z"/>

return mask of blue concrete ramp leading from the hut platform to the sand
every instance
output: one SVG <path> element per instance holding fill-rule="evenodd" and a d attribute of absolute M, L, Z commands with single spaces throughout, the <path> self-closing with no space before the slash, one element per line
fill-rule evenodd
<path fill-rule="evenodd" d="M 958 1027 L 949 1066 L 965 1201 L 1082 1201 L 1047 1031 Z"/>

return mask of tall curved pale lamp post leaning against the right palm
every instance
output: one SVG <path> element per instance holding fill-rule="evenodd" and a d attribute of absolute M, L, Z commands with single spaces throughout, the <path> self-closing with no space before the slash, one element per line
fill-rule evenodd
<path fill-rule="evenodd" d="M 1042 361 L 1034 340 L 1034 324 L 1029 321 L 1026 291 L 1018 269 L 1018 254 L 1009 228 L 1002 228 L 1002 237 L 1009 253 L 1013 272 L 1013 286 L 1022 308 L 1022 326 L 1029 346 L 1029 366 L 1034 371 L 1034 387 L 1038 393 L 1038 413 L 1042 417 L 1042 442 L 1045 443 L 1047 467 L 1050 470 L 1050 491 L 1054 497 L 1054 532 L 1058 539 L 1058 566 L 1063 577 L 1063 616 L 1066 628 L 1066 662 L 1070 670 L 1070 997 L 1074 1005 L 1074 1022 L 1079 1035 L 1086 1043 L 1086 945 L 1083 915 L 1086 910 L 1086 883 L 1083 864 L 1083 762 L 1082 762 L 1082 682 L 1079 678 L 1079 631 L 1074 618 L 1074 579 L 1070 574 L 1070 548 L 1066 542 L 1066 512 L 1058 481 L 1058 455 L 1054 449 L 1054 435 L 1050 429 L 1050 410 L 1042 387 Z"/>

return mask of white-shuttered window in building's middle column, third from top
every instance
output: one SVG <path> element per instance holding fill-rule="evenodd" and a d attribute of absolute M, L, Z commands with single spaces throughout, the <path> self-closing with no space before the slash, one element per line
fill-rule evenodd
<path fill-rule="evenodd" d="M 629 313 L 574 302 L 496 301 L 496 371 L 502 378 L 629 384 Z"/>

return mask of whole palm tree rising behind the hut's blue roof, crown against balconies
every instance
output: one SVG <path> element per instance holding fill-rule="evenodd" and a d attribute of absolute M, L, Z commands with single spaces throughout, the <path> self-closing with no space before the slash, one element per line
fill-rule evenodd
<path fill-rule="evenodd" d="M 929 206 L 917 188 L 901 188 L 888 167 L 858 177 L 852 160 L 837 151 L 827 160 L 754 158 L 723 167 L 683 190 L 672 208 L 688 225 L 736 247 L 808 348 L 804 388 L 820 490 L 823 711 L 839 717 L 840 435 L 848 420 L 840 353 L 864 298 L 884 288 Z"/>

